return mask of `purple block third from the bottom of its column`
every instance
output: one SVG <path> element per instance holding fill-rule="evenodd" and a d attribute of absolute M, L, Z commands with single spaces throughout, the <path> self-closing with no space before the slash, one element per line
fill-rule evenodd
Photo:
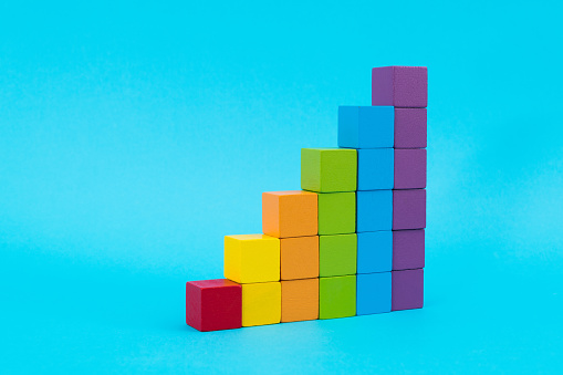
<path fill-rule="evenodd" d="M 426 228 L 426 189 L 393 190 L 393 230 Z"/>

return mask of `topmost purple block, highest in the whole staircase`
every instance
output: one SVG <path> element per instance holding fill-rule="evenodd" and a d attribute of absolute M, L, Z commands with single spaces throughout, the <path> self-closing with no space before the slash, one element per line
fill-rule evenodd
<path fill-rule="evenodd" d="M 372 105 L 424 108 L 427 102 L 426 66 L 384 66 L 372 70 Z"/>

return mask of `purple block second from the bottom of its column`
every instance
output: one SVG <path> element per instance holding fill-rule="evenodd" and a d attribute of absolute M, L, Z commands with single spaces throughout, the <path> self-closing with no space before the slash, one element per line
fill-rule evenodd
<path fill-rule="evenodd" d="M 393 270 L 414 270 L 425 267 L 425 230 L 393 232 Z"/>

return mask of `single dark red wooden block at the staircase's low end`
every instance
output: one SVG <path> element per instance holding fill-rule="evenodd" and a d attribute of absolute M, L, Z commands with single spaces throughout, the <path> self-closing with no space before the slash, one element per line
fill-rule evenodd
<path fill-rule="evenodd" d="M 186 283 L 186 323 L 198 331 L 240 329 L 242 288 L 230 280 Z"/>

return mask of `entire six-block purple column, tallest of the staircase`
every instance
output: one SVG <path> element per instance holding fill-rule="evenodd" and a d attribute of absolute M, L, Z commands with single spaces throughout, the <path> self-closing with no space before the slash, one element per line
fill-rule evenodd
<path fill-rule="evenodd" d="M 372 70 L 372 105 L 393 106 L 393 310 L 424 304 L 428 73 L 425 66 Z"/>

